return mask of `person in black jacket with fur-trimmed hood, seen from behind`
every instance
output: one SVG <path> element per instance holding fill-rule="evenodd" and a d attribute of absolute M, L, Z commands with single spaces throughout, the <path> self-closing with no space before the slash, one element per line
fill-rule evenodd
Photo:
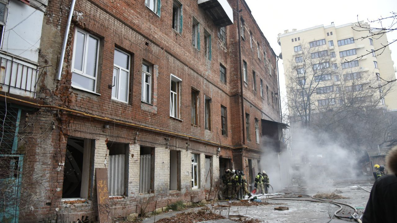
<path fill-rule="evenodd" d="M 397 222 L 397 146 L 386 156 L 389 174 L 376 179 L 365 207 L 362 223 Z"/>

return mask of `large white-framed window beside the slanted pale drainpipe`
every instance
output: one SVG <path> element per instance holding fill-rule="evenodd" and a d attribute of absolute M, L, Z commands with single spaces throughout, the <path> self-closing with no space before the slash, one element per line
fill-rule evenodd
<path fill-rule="evenodd" d="M 73 44 L 72 86 L 90 92 L 96 91 L 98 76 L 99 39 L 76 29 Z"/>

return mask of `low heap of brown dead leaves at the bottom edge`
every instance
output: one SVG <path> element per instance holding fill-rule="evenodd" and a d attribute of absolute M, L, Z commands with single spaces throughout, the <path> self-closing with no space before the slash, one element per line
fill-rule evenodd
<path fill-rule="evenodd" d="M 195 223 L 200 221 L 225 219 L 220 214 L 213 213 L 212 211 L 207 212 L 204 210 L 191 211 L 178 213 L 173 217 L 167 217 L 156 221 L 156 223 Z"/>

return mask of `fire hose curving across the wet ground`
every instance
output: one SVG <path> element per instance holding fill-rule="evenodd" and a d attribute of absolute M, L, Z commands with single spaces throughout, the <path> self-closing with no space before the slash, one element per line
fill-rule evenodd
<path fill-rule="evenodd" d="M 334 204 L 336 206 L 339 206 L 339 209 L 336 210 L 333 214 L 335 217 L 337 218 L 347 218 L 347 219 L 354 219 L 355 221 L 357 221 L 358 223 L 362 223 L 360 217 L 358 217 L 357 214 L 357 209 L 349 204 L 345 204 L 345 203 L 341 203 L 341 202 L 336 202 L 336 201 L 331 201 L 331 200 L 323 200 L 320 198 L 315 198 L 314 195 L 311 196 L 312 199 L 316 199 L 316 200 L 309 200 L 309 199 L 290 199 L 290 198 L 301 198 L 301 197 L 310 197 L 307 194 L 295 194 L 293 196 L 274 196 L 274 197 L 269 197 L 269 199 L 274 199 L 274 200 L 297 200 L 297 201 L 310 201 L 310 202 L 328 202 L 331 204 Z M 350 208 L 352 208 L 354 210 L 353 214 L 350 214 L 351 216 L 342 216 L 342 215 L 338 215 L 338 213 L 343 209 L 342 205 L 348 206 Z M 332 219 L 331 219 L 332 220 Z M 330 221 L 331 221 L 330 220 Z M 328 221 L 328 222 L 330 222 Z"/>

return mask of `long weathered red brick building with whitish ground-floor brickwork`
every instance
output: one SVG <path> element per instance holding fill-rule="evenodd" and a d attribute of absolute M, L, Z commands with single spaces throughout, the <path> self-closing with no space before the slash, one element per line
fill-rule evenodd
<path fill-rule="evenodd" d="M 62 58 L 71 5 L 44 9 L 35 95 L 1 98 L 21 111 L 19 222 L 96 219 L 95 168 L 116 219 L 212 200 L 279 152 L 276 55 L 244 0 L 77 0 Z"/>

